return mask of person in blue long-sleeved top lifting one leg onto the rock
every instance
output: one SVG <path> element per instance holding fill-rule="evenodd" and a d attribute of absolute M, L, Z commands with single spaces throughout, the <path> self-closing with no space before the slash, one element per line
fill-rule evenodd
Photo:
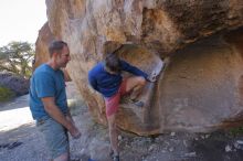
<path fill-rule="evenodd" d="M 123 79 L 122 71 L 129 72 L 136 76 Z M 109 128 L 110 148 L 114 161 L 119 161 L 116 112 L 119 107 L 120 97 L 131 92 L 130 99 L 137 106 L 144 106 L 142 101 L 137 101 L 142 87 L 148 82 L 155 82 L 156 76 L 149 77 L 139 68 L 131 66 L 127 62 L 119 60 L 115 53 L 107 54 L 104 62 L 98 63 L 88 72 L 91 86 L 101 93 L 106 104 L 106 117 Z"/>

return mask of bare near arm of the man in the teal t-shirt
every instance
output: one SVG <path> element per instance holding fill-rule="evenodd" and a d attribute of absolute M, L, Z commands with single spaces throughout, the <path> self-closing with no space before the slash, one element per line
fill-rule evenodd
<path fill-rule="evenodd" d="M 42 103 L 44 105 L 45 111 L 57 122 L 63 125 L 71 133 L 73 138 L 80 138 L 81 132 L 74 126 L 72 120 L 66 119 L 66 117 L 61 112 L 59 107 L 55 105 L 54 97 L 43 97 Z"/>

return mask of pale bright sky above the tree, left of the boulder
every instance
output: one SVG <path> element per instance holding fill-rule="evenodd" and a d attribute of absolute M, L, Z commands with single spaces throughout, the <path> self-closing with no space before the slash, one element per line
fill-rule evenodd
<path fill-rule="evenodd" d="M 0 0 L 0 46 L 11 41 L 35 43 L 46 21 L 45 0 Z"/>

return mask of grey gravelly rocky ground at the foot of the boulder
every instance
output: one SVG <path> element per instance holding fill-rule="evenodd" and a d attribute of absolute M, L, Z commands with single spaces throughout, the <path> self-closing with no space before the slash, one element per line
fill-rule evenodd
<path fill-rule="evenodd" d="M 74 96 L 71 94 L 71 96 Z M 71 139 L 72 161 L 109 161 L 107 128 L 95 124 L 82 101 L 68 99 L 83 136 Z M 36 130 L 28 95 L 0 104 L 0 160 L 46 161 L 47 151 Z M 212 133 L 170 132 L 139 137 L 120 131 L 122 161 L 242 161 L 243 135 L 232 131 Z"/>

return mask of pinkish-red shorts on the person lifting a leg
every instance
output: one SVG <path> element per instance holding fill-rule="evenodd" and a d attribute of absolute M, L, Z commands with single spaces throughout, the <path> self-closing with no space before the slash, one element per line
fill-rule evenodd
<path fill-rule="evenodd" d="M 107 117 L 114 115 L 117 111 L 117 109 L 119 107 L 120 97 L 127 93 L 126 92 L 126 83 L 127 83 L 127 80 L 124 79 L 119 86 L 117 94 L 115 94 L 112 97 L 105 98 L 106 116 Z"/>

